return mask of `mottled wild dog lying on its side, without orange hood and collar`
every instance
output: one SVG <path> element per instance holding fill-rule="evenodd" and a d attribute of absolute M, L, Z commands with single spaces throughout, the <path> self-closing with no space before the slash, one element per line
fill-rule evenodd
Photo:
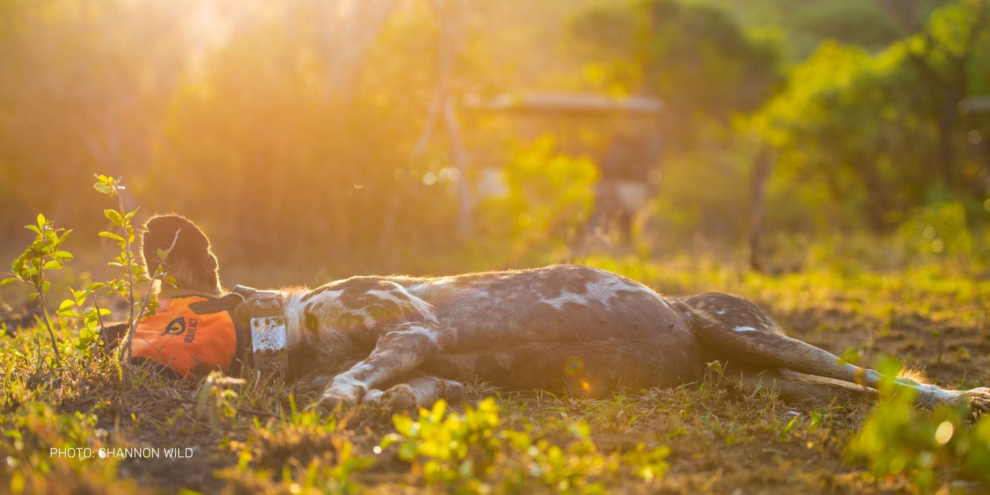
<path fill-rule="evenodd" d="M 169 247 L 177 288 L 159 298 L 220 296 L 206 236 L 178 216 L 146 225 L 143 255 Z M 788 401 L 875 396 L 881 375 L 786 337 L 742 297 L 710 292 L 664 298 L 606 270 L 552 265 L 446 277 L 356 276 L 283 291 L 286 380 L 322 390 L 324 411 L 358 402 L 394 409 L 456 401 L 462 382 L 511 390 L 602 396 L 623 386 L 673 387 L 728 363 L 752 388 Z M 990 408 L 990 389 L 946 390 L 899 378 L 919 403 Z"/>

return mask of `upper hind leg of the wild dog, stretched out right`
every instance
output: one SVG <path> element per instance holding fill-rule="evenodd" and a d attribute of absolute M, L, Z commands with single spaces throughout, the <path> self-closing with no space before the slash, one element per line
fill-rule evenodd
<path fill-rule="evenodd" d="M 835 354 L 784 336 L 759 308 L 741 297 L 722 293 L 693 296 L 677 302 L 691 330 L 720 358 L 761 368 L 786 368 L 878 388 L 883 376 L 842 361 Z M 683 307 L 681 307 L 683 306 Z M 945 390 L 898 378 L 895 386 L 912 388 L 917 401 L 929 407 L 966 403 L 973 412 L 990 410 L 990 389 Z"/>

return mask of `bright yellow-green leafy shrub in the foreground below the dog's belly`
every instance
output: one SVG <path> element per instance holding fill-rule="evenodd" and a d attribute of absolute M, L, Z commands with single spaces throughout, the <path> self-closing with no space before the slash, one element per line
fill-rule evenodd
<path fill-rule="evenodd" d="M 568 428 L 569 444 L 532 438 L 533 431 L 500 428 L 494 398 L 463 414 L 446 414 L 446 403 L 420 411 L 419 418 L 396 416 L 396 432 L 381 447 L 399 446 L 399 457 L 413 464 L 415 476 L 455 493 L 523 493 L 533 487 L 560 493 L 604 493 L 623 466 L 644 480 L 666 472 L 665 446 L 639 444 L 625 454 L 599 451 L 584 423 Z M 561 444 L 558 446 L 556 444 Z"/>

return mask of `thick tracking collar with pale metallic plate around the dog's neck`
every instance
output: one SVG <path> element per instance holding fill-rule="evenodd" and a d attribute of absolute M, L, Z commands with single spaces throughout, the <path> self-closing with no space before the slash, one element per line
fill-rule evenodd
<path fill-rule="evenodd" d="M 288 335 L 285 326 L 285 301 L 281 292 L 255 290 L 238 285 L 232 290 L 241 295 L 250 319 L 251 365 L 261 371 L 285 374 L 289 365 Z"/>

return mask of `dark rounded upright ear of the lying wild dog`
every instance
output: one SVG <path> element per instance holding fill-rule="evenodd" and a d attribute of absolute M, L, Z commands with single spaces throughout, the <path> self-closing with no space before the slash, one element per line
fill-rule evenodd
<path fill-rule="evenodd" d="M 180 215 L 154 216 L 145 224 L 142 239 L 141 255 L 148 273 L 153 274 L 161 262 L 158 249 L 167 249 L 174 241 L 165 259 L 165 272 L 175 277 L 178 293 L 220 295 L 217 256 L 210 248 L 210 240 L 195 224 Z"/>

